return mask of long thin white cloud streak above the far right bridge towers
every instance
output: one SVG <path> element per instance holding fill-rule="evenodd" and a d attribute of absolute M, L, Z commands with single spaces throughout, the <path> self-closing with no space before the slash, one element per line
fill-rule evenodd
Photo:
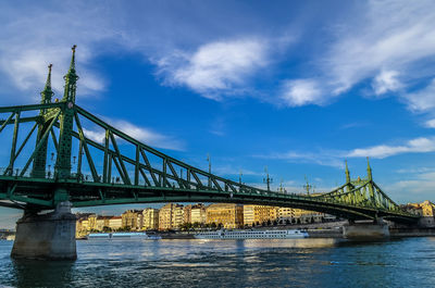
<path fill-rule="evenodd" d="M 425 153 L 434 151 L 435 151 L 435 138 L 421 137 L 409 140 L 407 143 L 401 146 L 380 145 L 369 148 L 353 149 L 347 154 L 347 156 L 349 158 L 370 156 L 370 158 L 383 159 L 402 153 Z"/>

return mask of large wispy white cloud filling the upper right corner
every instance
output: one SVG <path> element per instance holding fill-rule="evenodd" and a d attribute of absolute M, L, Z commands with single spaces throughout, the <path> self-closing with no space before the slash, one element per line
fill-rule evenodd
<path fill-rule="evenodd" d="M 434 49 L 433 2 L 369 1 L 365 15 L 334 45 L 326 68 L 346 89 L 384 67 L 409 67 Z"/>

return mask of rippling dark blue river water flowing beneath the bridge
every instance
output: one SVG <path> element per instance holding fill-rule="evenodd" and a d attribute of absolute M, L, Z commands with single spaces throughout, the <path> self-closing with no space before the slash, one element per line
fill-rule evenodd
<path fill-rule="evenodd" d="M 435 238 L 77 241 L 74 262 L 13 261 L 0 287 L 435 287 Z"/>

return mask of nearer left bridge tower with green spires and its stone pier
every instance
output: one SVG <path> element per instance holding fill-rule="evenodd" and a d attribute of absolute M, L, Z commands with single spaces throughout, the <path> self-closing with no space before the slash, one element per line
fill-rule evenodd
<path fill-rule="evenodd" d="M 71 150 L 74 121 L 74 104 L 76 96 L 76 83 L 78 76 L 75 73 L 75 48 L 67 74 L 64 76 L 65 90 L 62 101 L 63 108 L 41 109 L 39 112 L 36 154 L 32 170 L 35 178 L 46 177 L 47 165 L 47 135 L 51 129 L 50 123 L 55 121 L 60 113 L 59 145 L 54 166 L 54 180 L 62 183 L 71 177 Z M 41 92 L 41 104 L 51 103 L 51 67 L 45 89 Z M 15 259 L 48 259 L 48 260 L 75 260 L 77 258 L 75 243 L 75 221 L 71 213 L 70 196 L 66 189 L 57 187 L 52 192 L 54 211 L 47 214 L 38 214 L 37 210 L 26 206 L 24 215 L 16 223 L 16 235 L 11 256 Z"/>

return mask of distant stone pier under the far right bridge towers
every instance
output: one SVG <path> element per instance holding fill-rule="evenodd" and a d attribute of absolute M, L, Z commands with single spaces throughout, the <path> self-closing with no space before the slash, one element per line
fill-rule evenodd
<path fill-rule="evenodd" d="M 382 217 L 374 222 L 350 222 L 343 226 L 343 237 L 348 239 L 384 239 L 389 237 L 388 224 Z"/>

